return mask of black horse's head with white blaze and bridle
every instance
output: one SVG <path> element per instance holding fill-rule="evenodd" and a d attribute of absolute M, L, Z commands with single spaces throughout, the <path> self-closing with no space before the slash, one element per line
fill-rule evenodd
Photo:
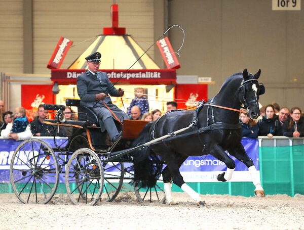
<path fill-rule="evenodd" d="M 248 74 L 247 69 L 243 71 L 243 80 L 237 90 L 237 98 L 249 110 L 249 116 L 256 119 L 260 115 L 258 107 L 259 96 L 265 93 L 263 84 L 258 83 L 258 78 L 261 74 L 259 69 L 256 74 Z"/>

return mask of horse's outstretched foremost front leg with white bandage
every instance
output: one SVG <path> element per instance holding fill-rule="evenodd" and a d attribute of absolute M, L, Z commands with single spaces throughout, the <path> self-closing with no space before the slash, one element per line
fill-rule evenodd
<path fill-rule="evenodd" d="M 255 166 L 251 158 L 247 155 L 242 144 L 237 149 L 232 149 L 228 151 L 232 156 L 237 158 L 239 161 L 242 161 L 247 167 L 252 178 L 253 185 L 255 187 L 254 193 L 258 197 L 264 197 L 264 190 L 261 186 L 261 180 L 259 172 L 256 171 Z"/>

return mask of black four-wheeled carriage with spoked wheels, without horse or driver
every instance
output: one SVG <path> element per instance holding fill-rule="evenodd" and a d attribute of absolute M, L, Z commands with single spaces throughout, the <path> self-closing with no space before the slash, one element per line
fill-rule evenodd
<path fill-rule="evenodd" d="M 45 123 L 52 124 L 56 130 L 72 129 L 67 139 L 58 142 L 54 136 L 54 147 L 51 147 L 41 139 L 32 138 L 22 142 L 13 154 L 10 179 L 22 203 L 48 203 L 59 182 L 65 183 L 67 194 L 76 205 L 113 201 L 122 189 L 134 189 L 139 202 L 151 202 L 152 194 L 160 199 L 158 193 L 162 189 L 158 185 L 154 190 L 140 190 L 132 185 L 133 158 L 121 154 L 130 147 L 146 121 L 125 120 L 120 126 L 122 136 L 113 143 L 106 132 L 101 132 L 96 114 L 80 105 L 80 100 L 67 99 L 66 106 L 78 108 L 77 119 L 66 120 L 63 105 L 45 104 L 44 109 L 55 115 Z"/>

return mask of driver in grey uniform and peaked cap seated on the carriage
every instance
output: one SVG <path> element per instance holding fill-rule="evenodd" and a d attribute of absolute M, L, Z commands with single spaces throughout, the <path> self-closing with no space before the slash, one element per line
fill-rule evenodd
<path fill-rule="evenodd" d="M 86 57 L 88 69 L 77 78 L 77 91 L 81 99 L 80 104 L 91 108 L 100 122 L 101 131 L 106 130 L 112 142 L 116 142 L 122 132 L 119 132 L 115 120 L 122 121 L 128 119 L 127 114 L 119 109 L 108 95 L 121 97 L 124 90 L 116 89 L 109 81 L 105 72 L 98 71 L 101 54 L 96 52 Z M 113 115 L 111 111 L 113 112 Z"/>

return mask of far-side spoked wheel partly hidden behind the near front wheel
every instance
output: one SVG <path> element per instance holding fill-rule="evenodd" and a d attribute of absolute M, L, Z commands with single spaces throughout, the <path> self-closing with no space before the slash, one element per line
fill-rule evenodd
<path fill-rule="evenodd" d="M 102 162 L 104 172 L 104 190 L 101 195 L 102 201 L 113 201 L 119 194 L 124 181 L 123 162 Z"/>

